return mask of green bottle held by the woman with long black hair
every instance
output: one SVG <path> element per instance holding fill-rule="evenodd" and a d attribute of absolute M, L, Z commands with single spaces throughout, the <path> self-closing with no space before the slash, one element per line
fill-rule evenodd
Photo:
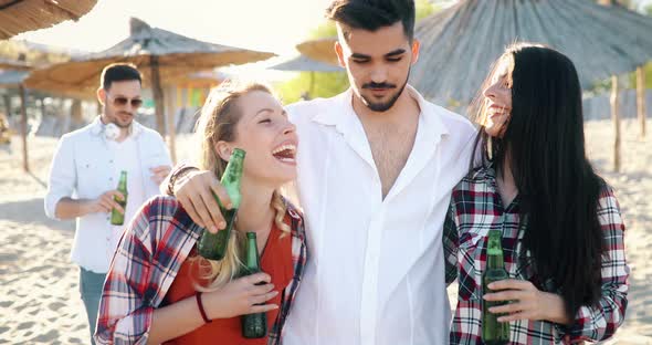
<path fill-rule="evenodd" d="M 499 230 L 490 230 L 488 245 L 486 250 L 486 270 L 482 275 L 482 288 L 484 293 L 488 293 L 488 284 L 505 280 L 509 274 L 505 270 L 503 259 L 503 245 L 501 241 L 503 234 Z M 509 343 L 509 323 L 498 322 L 498 314 L 488 311 L 492 306 L 504 305 L 507 302 L 493 302 L 482 300 L 482 341 L 487 345 L 502 345 Z"/>

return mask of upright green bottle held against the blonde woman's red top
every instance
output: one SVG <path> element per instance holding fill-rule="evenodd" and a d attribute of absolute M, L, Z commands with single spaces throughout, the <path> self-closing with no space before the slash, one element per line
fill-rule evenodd
<path fill-rule="evenodd" d="M 257 272 L 261 272 L 261 262 L 259 259 L 256 236 L 255 232 L 248 232 L 246 251 L 244 253 L 244 269 L 242 270 L 242 273 L 240 275 L 251 275 Z M 259 284 L 264 284 L 264 282 L 261 282 Z M 267 335 L 267 313 L 242 315 L 240 321 L 242 323 L 243 337 L 261 338 Z"/>

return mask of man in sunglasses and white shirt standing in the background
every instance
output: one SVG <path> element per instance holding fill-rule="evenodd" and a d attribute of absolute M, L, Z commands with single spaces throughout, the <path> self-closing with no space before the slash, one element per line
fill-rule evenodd
<path fill-rule="evenodd" d="M 130 64 L 104 69 L 97 100 L 103 113 L 93 123 L 65 134 L 50 169 L 45 213 L 53 219 L 76 219 L 71 258 L 80 265 L 80 292 L 95 333 L 97 306 L 106 272 L 124 227 L 171 169 L 161 136 L 134 121 L 143 104 L 141 76 Z M 127 171 L 127 205 L 114 198 L 120 171 Z M 112 226 L 111 212 L 124 213 L 123 226 Z"/>

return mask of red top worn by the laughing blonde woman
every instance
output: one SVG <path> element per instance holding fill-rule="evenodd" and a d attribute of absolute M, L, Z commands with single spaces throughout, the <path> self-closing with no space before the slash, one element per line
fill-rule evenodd
<path fill-rule="evenodd" d="M 292 261 L 292 236 L 290 233 L 281 238 L 283 232 L 276 228 L 276 224 L 272 226 L 267 244 L 261 257 L 261 266 L 263 272 L 272 276 L 272 283 L 274 290 L 278 291 L 278 294 L 267 301 L 267 303 L 277 304 L 281 306 L 281 295 L 283 290 L 290 284 L 294 275 L 294 264 Z M 196 250 L 192 250 L 193 255 Z M 177 301 L 193 296 L 196 291 L 193 282 L 199 280 L 199 270 L 201 270 L 198 261 L 186 260 L 181 264 L 181 269 L 175 281 L 170 285 L 166 297 L 165 304 L 171 304 Z M 271 331 L 278 310 L 267 312 L 267 330 Z M 209 324 L 185 334 L 180 337 L 166 342 L 166 344 L 176 345 L 190 345 L 190 344 L 222 344 L 222 345 L 264 345 L 267 344 L 267 338 L 248 339 L 242 337 L 240 316 L 231 318 L 217 318 Z"/>

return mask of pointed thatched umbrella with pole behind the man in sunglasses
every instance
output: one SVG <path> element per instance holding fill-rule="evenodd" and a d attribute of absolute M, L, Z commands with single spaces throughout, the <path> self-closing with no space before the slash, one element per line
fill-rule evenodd
<path fill-rule="evenodd" d="M 162 81 L 191 72 L 211 70 L 229 64 L 255 62 L 273 53 L 213 44 L 193 40 L 170 31 L 149 27 L 132 18 L 129 36 L 116 45 L 73 61 L 34 71 L 29 87 L 40 90 L 80 90 L 94 93 L 102 69 L 114 62 L 136 64 L 150 82 L 156 105 L 157 130 L 165 135 Z M 173 135 L 170 130 L 170 135 Z M 173 146 L 173 138 L 170 143 Z M 173 155 L 173 147 L 170 147 Z"/>

